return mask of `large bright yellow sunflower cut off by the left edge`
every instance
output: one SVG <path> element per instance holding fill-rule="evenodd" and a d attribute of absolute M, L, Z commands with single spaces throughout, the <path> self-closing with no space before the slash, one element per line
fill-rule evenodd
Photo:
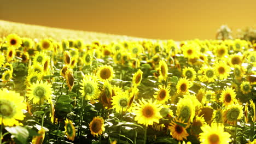
<path fill-rule="evenodd" d="M 22 102 L 24 98 L 20 97 L 19 93 L 8 91 L 6 88 L 1 88 L 0 93 L 0 125 L 2 123 L 9 127 L 22 125 L 19 121 L 25 117 L 22 111 L 26 110 L 26 104 Z"/>

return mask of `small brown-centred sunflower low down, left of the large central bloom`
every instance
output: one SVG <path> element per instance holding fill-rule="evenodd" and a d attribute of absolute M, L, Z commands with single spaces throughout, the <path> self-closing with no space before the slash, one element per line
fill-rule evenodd
<path fill-rule="evenodd" d="M 102 135 L 102 132 L 105 131 L 104 128 L 104 119 L 102 117 L 94 117 L 89 124 L 90 131 L 92 135 Z"/>

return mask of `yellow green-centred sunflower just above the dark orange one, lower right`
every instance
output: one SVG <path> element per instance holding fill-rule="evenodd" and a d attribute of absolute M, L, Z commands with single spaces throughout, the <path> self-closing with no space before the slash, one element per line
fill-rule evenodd
<path fill-rule="evenodd" d="M 184 122 L 191 122 L 195 116 L 195 105 L 190 98 L 182 98 L 177 103 L 176 115 Z"/>

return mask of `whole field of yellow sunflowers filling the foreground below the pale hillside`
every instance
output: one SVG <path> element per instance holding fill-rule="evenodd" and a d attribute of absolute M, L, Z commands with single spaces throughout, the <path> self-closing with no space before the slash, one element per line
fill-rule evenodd
<path fill-rule="evenodd" d="M 0 38 L 0 144 L 256 143 L 256 43 Z"/>

